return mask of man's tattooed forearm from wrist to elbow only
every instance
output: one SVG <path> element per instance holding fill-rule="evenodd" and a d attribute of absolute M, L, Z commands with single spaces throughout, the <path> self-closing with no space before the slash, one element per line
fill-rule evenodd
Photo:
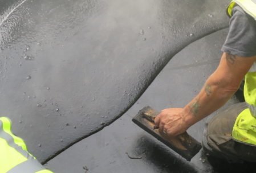
<path fill-rule="evenodd" d="M 218 74 L 213 73 L 200 93 L 184 107 L 184 120 L 189 126 L 221 108 L 238 89 L 216 75 Z"/>

